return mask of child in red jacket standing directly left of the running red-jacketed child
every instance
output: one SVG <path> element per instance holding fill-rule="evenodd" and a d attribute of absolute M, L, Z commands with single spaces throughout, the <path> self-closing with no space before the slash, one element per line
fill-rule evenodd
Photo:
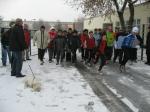
<path fill-rule="evenodd" d="M 88 50 L 88 63 L 91 62 L 91 59 L 94 59 L 94 48 L 95 48 L 95 39 L 93 36 L 93 32 L 89 32 L 89 38 L 87 38 L 87 50 Z"/>

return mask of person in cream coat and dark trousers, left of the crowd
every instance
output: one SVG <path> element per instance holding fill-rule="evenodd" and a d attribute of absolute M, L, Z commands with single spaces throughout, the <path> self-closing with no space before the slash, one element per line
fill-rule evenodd
<path fill-rule="evenodd" d="M 38 48 L 38 59 L 40 60 L 40 65 L 44 64 L 44 55 L 46 48 L 48 47 L 50 39 L 48 36 L 48 32 L 45 31 L 45 26 L 41 26 L 40 30 L 38 30 L 33 37 L 33 44 L 37 44 Z"/>

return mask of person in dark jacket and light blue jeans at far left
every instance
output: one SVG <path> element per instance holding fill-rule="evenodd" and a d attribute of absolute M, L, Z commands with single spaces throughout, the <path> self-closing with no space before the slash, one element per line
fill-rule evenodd
<path fill-rule="evenodd" d="M 10 29 L 8 31 L 4 32 L 4 28 L 1 30 L 2 64 L 3 64 L 3 66 L 6 66 L 7 55 L 8 55 L 9 63 L 11 63 L 9 40 L 10 40 L 11 29 L 14 25 L 15 25 L 15 22 L 10 22 L 10 24 L 9 24 Z"/>

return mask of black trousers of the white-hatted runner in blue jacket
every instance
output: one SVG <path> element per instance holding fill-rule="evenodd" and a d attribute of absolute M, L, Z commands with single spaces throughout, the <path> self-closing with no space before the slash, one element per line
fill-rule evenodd
<path fill-rule="evenodd" d="M 121 65 L 124 65 L 128 62 L 128 60 L 130 59 L 130 52 L 131 52 L 131 48 L 123 48 L 123 60 L 121 62 Z"/>

